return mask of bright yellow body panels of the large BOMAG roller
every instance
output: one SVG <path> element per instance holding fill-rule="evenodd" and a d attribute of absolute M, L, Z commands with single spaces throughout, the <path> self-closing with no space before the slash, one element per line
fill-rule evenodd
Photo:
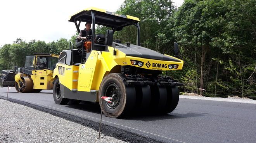
<path fill-rule="evenodd" d="M 126 56 L 125 53 L 121 52 L 118 49 L 116 49 L 116 56 L 113 56 L 112 53 L 114 48 L 109 47 L 108 49 L 109 52 L 99 52 L 93 50 L 90 53 L 87 61 L 84 64 L 80 64 L 78 66 L 68 66 L 66 64 L 57 63 L 57 66 L 54 69 L 54 77 L 59 77 L 60 83 L 70 90 L 77 89 L 77 91 L 90 92 L 91 90 L 99 90 L 100 83 L 104 76 L 106 76 L 107 74 L 111 72 L 121 73 L 121 66 L 133 66 L 131 64 L 131 60 L 151 63 L 149 68 L 146 66 L 146 64 L 141 67 L 150 70 L 180 70 L 183 67 L 183 61 L 180 59 L 178 59 L 180 60 L 180 62 L 173 62 L 145 59 L 141 57 L 131 57 Z M 153 67 L 153 63 L 161 65 L 161 67 Z M 168 65 L 170 64 L 176 64 L 178 65 L 178 68 L 169 69 Z M 135 67 L 139 66 L 136 65 Z"/>

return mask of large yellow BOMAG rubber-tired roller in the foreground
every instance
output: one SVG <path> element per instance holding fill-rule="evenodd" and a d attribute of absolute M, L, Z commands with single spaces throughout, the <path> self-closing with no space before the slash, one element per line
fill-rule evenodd
<path fill-rule="evenodd" d="M 91 7 L 74 14 L 68 21 L 74 22 L 78 33 L 81 22 L 91 22 L 92 35 L 87 37 L 95 38 L 88 53 L 83 47 L 84 41 L 77 42 L 76 49 L 61 52 L 54 69 L 56 104 L 67 104 L 69 99 L 99 102 L 101 96 L 107 96 L 113 98 L 112 103 L 100 102 L 100 107 L 112 118 L 137 111 L 166 114 L 176 108 L 177 86 L 182 84 L 160 75 L 163 71 L 181 70 L 183 61 L 141 47 L 137 17 Z M 95 24 L 109 27 L 106 36 L 95 34 Z M 136 45 L 113 40 L 114 32 L 129 25 L 137 27 Z M 177 44 L 175 51 L 177 55 Z"/>

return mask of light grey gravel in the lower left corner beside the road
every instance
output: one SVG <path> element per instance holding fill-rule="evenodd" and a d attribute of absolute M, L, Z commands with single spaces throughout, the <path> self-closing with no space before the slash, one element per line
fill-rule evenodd
<path fill-rule="evenodd" d="M 79 123 L 0 99 L 0 142 L 125 143 Z"/>

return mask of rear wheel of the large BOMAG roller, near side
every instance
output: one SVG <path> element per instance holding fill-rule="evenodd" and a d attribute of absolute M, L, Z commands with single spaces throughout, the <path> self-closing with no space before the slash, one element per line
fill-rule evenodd
<path fill-rule="evenodd" d="M 53 86 L 54 102 L 56 104 L 65 105 L 65 104 L 67 104 L 69 102 L 69 99 L 61 97 L 61 87 L 60 86 L 61 86 L 61 84 L 60 84 L 59 78 L 57 77 L 55 79 L 54 86 Z"/>

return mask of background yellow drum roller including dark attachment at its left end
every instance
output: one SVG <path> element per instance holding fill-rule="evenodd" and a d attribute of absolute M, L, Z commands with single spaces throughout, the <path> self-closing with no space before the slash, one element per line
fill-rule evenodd
<path fill-rule="evenodd" d="M 53 70 L 58 58 L 58 55 L 43 53 L 26 56 L 25 67 L 16 68 L 15 71 L 2 70 L 0 86 L 15 86 L 19 93 L 38 93 L 42 89 L 52 89 Z"/>

